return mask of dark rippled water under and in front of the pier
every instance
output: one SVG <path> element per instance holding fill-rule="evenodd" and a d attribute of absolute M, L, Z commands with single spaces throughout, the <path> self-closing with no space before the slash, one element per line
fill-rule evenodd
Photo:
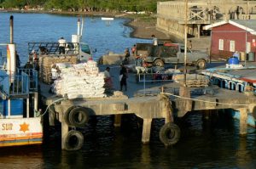
<path fill-rule="evenodd" d="M 177 121 L 181 140 L 171 147 L 160 143 L 158 132 L 164 120 L 154 120 L 150 143 L 141 144 L 142 121 L 124 115 L 121 127 L 113 127 L 113 116 L 98 116 L 79 129 L 84 133 L 83 149 L 61 150 L 57 136 L 47 144 L 0 149 L 0 167 L 27 168 L 253 168 L 256 165 L 255 132 L 239 136 L 239 121 L 224 114 L 202 121 L 193 112 Z M 15 162 L 14 162 L 15 161 Z M 24 164 L 26 162 L 26 164 Z"/>

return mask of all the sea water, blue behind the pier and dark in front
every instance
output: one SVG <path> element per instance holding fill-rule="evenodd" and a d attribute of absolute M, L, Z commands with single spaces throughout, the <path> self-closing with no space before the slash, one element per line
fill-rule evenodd
<path fill-rule="evenodd" d="M 14 14 L 15 42 L 26 62 L 27 42 L 71 39 L 76 33 L 77 18 L 51 14 Z M 148 40 L 129 37 L 131 29 L 125 20 L 111 25 L 100 18 L 86 18 L 84 41 L 97 48 L 96 57 L 111 50 L 122 53 L 135 42 Z M 0 14 L 0 42 L 9 41 L 9 14 Z M 50 137 L 42 146 L 0 149 L 0 168 L 108 168 L 108 169 L 169 169 L 169 168 L 255 168 L 256 132 L 248 128 L 246 137 L 239 136 L 239 122 L 223 113 L 203 121 L 200 112 L 189 113 L 177 124 L 182 137 L 172 147 L 160 143 L 158 133 L 164 121 L 154 120 L 149 144 L 141 144 L 142 121 L 124 115 L 122 127 L 113 127 L 113 116 L 97 116 L 84 133 L 83 149 L 61 150 L 60 127 L 50 129 Z"/>

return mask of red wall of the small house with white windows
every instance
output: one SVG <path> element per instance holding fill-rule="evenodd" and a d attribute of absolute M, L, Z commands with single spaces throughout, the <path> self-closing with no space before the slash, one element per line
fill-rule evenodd
<path fill-rule="evenodd" d="M 247 35 L 247 36 L 246 36 Z M 224 50 L 219 50 L 219 39 L 224 40 Z M 227 59 L 234 53 L 230 51 L 230 41 L 235 41 L 235 51 L 241 54 L 246 52 L 256 52 L 256 48 L 253 47 L 253 39 L 256 39 L 251 33 L 242 30 L 239 27 L 231 24 L 219 25 L 212 28 L 212 47 L 211 56 L 212 59 Z M 246 42 L 250 42 L 251 48 L 246 51 Z"/>

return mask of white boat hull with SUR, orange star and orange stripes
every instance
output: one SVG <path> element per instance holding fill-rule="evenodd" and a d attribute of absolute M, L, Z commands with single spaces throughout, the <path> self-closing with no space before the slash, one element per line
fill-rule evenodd
<path fill-rule="evenodd" d="M 41 117 L 0 119 L 0 147 L 42 144 Z"/>

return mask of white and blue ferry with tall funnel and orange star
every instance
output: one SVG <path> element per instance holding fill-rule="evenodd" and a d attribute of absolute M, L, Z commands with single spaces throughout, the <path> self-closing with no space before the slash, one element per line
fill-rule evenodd
<path fill-rule="evenodd" d="M 38 72 L 16 67 L 10 16 L 10 42 L 0 70 L 0 147 L 42 144 L 43 123 L 38 114 Z"/>

